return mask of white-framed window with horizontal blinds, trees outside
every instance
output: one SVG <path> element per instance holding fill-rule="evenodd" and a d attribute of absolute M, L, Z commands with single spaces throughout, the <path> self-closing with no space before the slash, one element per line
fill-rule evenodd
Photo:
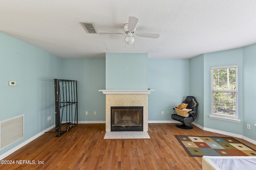
<path fill-rule="evenodd" d="M 211 68 L 211 115 L 238 119 L 238 66 Z"/>

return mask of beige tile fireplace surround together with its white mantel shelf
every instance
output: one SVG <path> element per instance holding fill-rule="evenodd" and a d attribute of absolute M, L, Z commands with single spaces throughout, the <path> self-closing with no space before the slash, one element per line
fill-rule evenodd
<path fill-rule="evenodd" d="M 111 131 L 111 106 L 143 106 L 143 131 L 148 131 L 148 94 L 155 90 L 99 90 L 106 94 L 106 132 Z"/>

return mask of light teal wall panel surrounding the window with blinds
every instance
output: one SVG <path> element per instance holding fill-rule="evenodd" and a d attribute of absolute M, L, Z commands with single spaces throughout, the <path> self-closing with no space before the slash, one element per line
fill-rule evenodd
<path fill-rule="evenodd" d="M 242 48 L 204 54 L 204 127 L 242 135 L 242 123 L 212 119 L 211 67 L 238 65 L 238 114 L 243 121 L 243 50 Z"/>

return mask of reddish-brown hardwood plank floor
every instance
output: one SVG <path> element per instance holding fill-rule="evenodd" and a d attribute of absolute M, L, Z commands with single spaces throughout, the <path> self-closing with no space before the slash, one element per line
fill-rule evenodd
<path fill-rule="evenodd" d="M 151 139 L 103 139 L 104 134 L 105 124 L 78 124 L 60 137 L 45 133 L 4 158 L 15 164 L 0 164 L 0 169 L 200 170 L 202 158 L 188 156 L 174 135 L 226 136 L 196 126 L 178 129 L 175 123 L 149 123 Z"/>

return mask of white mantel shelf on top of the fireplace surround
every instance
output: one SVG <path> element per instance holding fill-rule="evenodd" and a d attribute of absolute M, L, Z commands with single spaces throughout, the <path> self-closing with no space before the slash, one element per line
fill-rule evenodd
<path fill-rule="evenodd" d="M 103 94 L 150 94 L 155 90 L 99 90 Z"/>

